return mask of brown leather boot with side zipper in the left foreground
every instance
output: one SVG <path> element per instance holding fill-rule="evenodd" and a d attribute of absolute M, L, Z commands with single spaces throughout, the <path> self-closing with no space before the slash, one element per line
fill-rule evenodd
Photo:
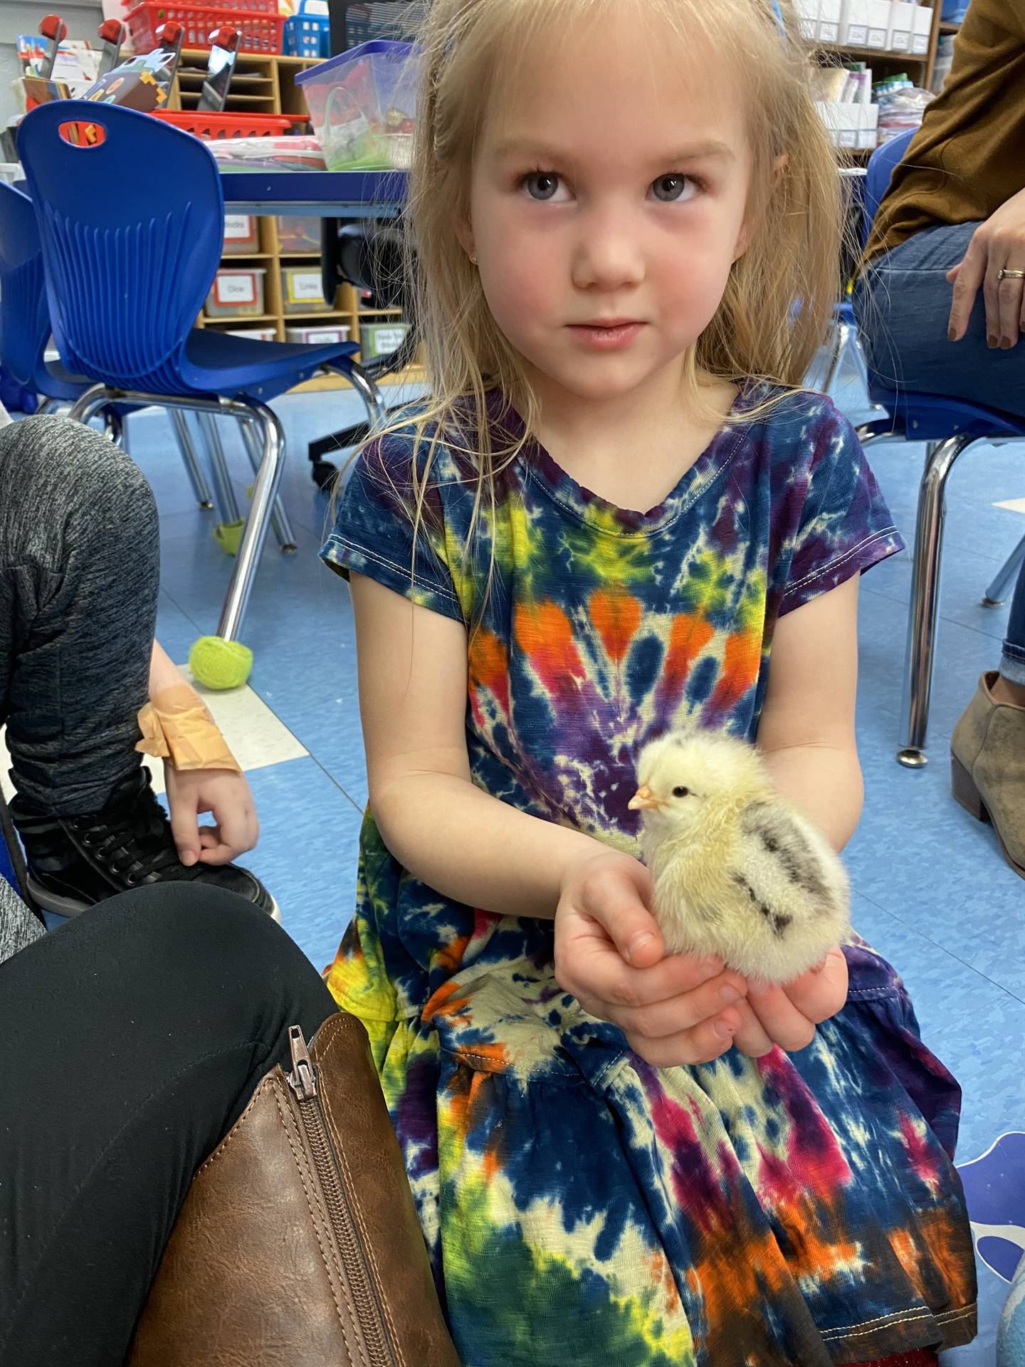
<path fill-rule="evenodd" d="M 127 1367 L 459 1367 L 362 1025 L 291 1039 L 193 1178 Z"/>

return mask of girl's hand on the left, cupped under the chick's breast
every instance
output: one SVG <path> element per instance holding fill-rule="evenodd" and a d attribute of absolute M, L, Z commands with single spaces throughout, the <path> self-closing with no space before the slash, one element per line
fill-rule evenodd
<path fill-rule="evenodd" d="M 745 982 L 718 960 L 666 956 L 651 894 L 651 874 L 629 854 L 570 865 L 555 913 L 555 976 L 656 1068 L 708 1064 L 733 1043 L 741 1016 L 730 1003 L 742 1002 Z"/>

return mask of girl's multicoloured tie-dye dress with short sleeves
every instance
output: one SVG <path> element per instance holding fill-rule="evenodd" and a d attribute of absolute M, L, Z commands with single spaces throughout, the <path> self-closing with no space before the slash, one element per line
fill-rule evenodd
<path fill-rule="evenodd" d="M 765 398 L 742 392 L 649 513 L 529 443 L 470 558 L 465 455 L 437 448 L 414 565 L 411 439 L 362 454 L 324 558 L 480 617 L 478 787 L 637 852 L 638 746 L 685 722 L 753 738 L 776 619 L 899 550 L 830 401 Z M 359 854 L 328 984 L 370 1035 L 465 1367 L 910 1363 L 973 1337 L 959 1089 L 866 946 L 806 1050 L 656 1069 L 559 988 L 551 921 L 439 895 L 370 812 Z"/>

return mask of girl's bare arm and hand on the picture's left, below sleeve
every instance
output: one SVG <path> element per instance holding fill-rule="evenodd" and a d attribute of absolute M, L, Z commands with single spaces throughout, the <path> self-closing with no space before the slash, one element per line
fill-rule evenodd
<path fill-rule="evenodd" d="M 648 869 L 579 831 L 482 793 L 466 753 L 466 632 L 353 574 L 370 808 L 385 845 L 444 897 L 555 917 L 555 973 L 649 1062 L 708 1062 L 739 1025 L 746 984 L 664 954 Z M 733 988 L 733 998 L 722 995 Z"/>

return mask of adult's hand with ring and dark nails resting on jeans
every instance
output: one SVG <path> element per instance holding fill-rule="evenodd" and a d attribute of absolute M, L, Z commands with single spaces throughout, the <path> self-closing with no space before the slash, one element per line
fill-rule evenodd
<path fill-rule="evenodd" d="M 1025 271 L 1025 190 L 1013 194 L 972 234 L 968 252 L 947 272 L 954 286 L 950 306 L 950 340 L 959 342 L 979 288 L 985 299 L 985 334 L 991 347 L 1007 350 L 1025 332 L 1025 279 L 1000 280 L 998 272 Z"/>

